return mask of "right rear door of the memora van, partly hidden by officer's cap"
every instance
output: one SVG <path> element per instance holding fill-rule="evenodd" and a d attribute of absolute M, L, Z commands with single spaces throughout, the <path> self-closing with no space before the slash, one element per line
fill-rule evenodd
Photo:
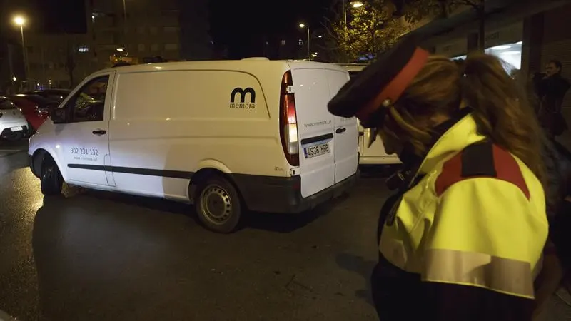
<path fill-rule="evenodd" d="M 325 74 L 329 83 L 329 95 L 333 98 L 349 81 L 349 75 L 346 71 L 336 69 L 326 69 Z M 335 126 L 335 183 L 339 183 L 357 172 L 359 132 L 355 117 L 333 116 L 333 124 Z"/>

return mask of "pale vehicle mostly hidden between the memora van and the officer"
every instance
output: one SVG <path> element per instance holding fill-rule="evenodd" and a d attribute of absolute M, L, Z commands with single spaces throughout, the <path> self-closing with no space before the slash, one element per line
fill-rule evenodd
<path fill-rule="evenodd" d="M 347 69 L 351 77 L 356 76 L 368 66 L 366 63 L 340 63 L 339 65 Z M 371 135 L 370 129 L 363 128 L 359 124 L 360 165 L 398 165 L 401 163 L 396 154 L 388 154 L 385 151 L 385 146 L 383 146 L 383 141 L 380 138 L 368 146 Z"/>

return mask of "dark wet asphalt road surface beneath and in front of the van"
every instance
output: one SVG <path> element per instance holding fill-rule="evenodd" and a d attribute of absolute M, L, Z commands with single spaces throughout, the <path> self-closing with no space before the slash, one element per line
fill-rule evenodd
<path fill-rule="evenodd" d="M 250 215 L 219 235 L 166 200 L 44 198 L 23 149 L 0 147 L 0 310 L 19 320 L 377 320 L 378 175 L 313 213 Z M 545 320 L 567 309 L 554 297 Z"/>

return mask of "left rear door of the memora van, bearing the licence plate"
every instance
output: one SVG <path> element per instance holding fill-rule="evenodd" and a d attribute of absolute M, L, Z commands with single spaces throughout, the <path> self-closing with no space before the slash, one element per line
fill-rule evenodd
<path fill-rule="evenodd" d="M 330 92 L 325 70 L 313 63 L 290 66 L 298 123 L 301 195 L 306 198 L 335 182 L 335 129 L 333 115 L 327 110 Z"/>

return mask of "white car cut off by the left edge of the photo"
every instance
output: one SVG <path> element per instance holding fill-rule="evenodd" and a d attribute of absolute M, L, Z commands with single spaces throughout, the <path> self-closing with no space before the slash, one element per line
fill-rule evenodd
<path fill-rule="evenodd" d="M 28 132 L 28 121 L 8 98 L 0 96 L 0 138 L 17 141 Z"/>

